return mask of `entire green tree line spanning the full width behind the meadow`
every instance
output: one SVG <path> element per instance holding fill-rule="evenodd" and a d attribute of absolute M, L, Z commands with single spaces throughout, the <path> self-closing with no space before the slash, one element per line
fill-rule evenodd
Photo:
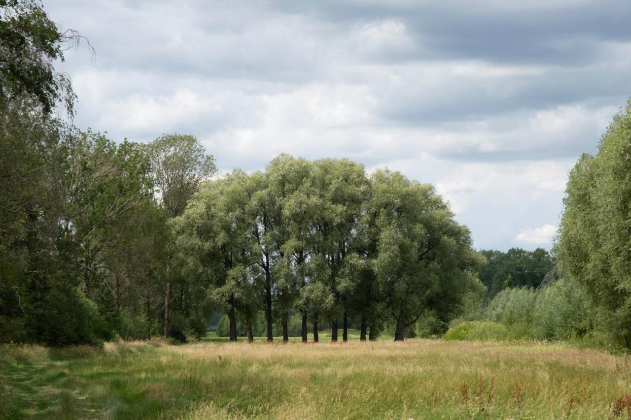
<path fill-rule="evenodd" d="M 280 155 L 218 176 L 193 136 L 80 131 L 53 64 L 83 39 L 38 1 L 0 0 L 0 341 L 184 340 L 219 309 L 231 340 L 261 324 L 286 340 L 296 318 L 303 341 L 480 318 L 631 347 L 631 105 L 570 172 L 553 252 L 478 253 L 398 172 Z"/>

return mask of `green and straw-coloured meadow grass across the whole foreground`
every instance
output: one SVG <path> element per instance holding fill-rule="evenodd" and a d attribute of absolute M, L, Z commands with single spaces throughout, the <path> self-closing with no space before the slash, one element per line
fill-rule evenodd
<path fill-rule="evenodd" d="M 559 344 L 0 346 L 11 419 L 626 418 L 630 391 L 627 356 Z"/>

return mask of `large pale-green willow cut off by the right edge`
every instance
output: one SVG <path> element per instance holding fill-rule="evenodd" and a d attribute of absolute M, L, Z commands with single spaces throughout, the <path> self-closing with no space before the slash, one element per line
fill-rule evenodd
<path fill-rule="evenodd" d="M 631 101 L 615 115 L 595 156 L 569 175 L 558 260 L 598 308 L 597 327 L 631 347 Z"/>

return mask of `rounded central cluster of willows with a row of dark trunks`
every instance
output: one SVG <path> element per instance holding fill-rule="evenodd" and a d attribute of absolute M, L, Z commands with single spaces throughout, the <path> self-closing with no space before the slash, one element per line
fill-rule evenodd
<path fill-rule="evenodd" d="M 433 187 L 399 172 L 367 175 L 348 160 L 280 155 L 263 172 L 239 170 L 204 182 L 173 221 L 182 278 L 225 309 L 230 339 L 237 318 L 252 339 L 264 313 L 266 334 L 280 320 L 338 325 L 350 318 L 361 338 L 384 322 L 395 339 L 427 310 L 457 312 L 477 281 L 479 255 Z"/>

